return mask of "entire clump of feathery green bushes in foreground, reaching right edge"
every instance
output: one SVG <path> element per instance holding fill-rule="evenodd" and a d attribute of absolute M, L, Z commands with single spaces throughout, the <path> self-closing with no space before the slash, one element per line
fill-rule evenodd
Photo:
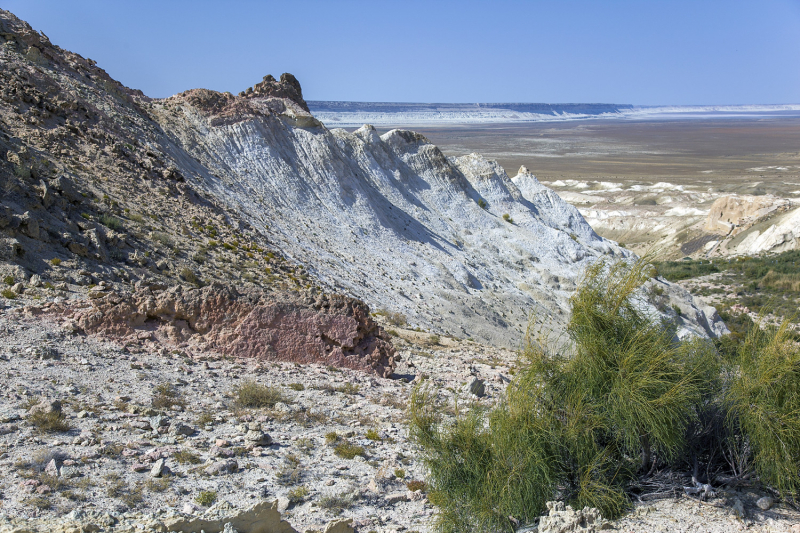
<path fill-rule="evenodd" d="M 529 336 L 522 370 L 491 409 L 449 419 L 437 391 L 413 391 L 410 435 L 439 531 L 514 531 L 556 498 L 613 518 L 656 464 L 699 475 L 700 461 L 718 471 L 734 455 L 734 474 L 752 464 L 797 496 L 800 350 L 785 326 L 755 328 L 726 357 L 707 340 L 680 342 L 645 311 L 640 289 L 652 275 L 646 258 L 590 266 L 570 300 L 566 339 Z"/>

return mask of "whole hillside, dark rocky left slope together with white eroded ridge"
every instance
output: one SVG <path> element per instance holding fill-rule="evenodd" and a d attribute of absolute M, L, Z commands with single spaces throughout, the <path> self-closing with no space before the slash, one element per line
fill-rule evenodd
<path fill-rule="evenodd" d="M 589 263 L 629 255 L 526 169 L 448 158 L 409 131 L 328 129 L 289 74 L 154 100 L 8 12 L 0 26 L 0 268 L 19 293 L 217 282 L 303 315 L 294 294 L 316 288 L 517 346 L 532 315 L 566 323 Z M 679 297 L 681 332 L 720 331 Z"/>

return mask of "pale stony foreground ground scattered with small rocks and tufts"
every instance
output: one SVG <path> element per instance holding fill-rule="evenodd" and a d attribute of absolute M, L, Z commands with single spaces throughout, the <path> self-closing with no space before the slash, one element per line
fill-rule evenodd
<path fill-rule="evenodd" d="M 396 327 L 390 378 L 120 346 L 34 316 L 26 303 L 0 313 L 3 532 L 208 532 L 223 522 L 242 531 L 432 531 L 435 508 L 407 435 L 414 384 L 429 379 L 451 404 L 488 406 L 516 364 L 507 349 Z M 248 390 L 261 407 L 242 405 Z M 790 508 L 759 509 L 762 496 L 645 502 L 584 529 L 563 529 L 581 523 L 567 513 L 542 531 L 800 530 Z M 248 512 L 271 513 L 274 528 L 248 529 Z"/>

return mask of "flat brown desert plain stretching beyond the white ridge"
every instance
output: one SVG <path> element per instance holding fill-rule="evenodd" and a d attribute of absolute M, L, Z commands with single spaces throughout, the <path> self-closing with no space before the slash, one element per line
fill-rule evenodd
<path fill-rule="evenodd" d="M 407 129 L 422 133 L 447 155 L 476 152 L 496 159 L 510 176 L 525 165 L 542 181 L 670 182 L 707 185 L 720 193 L 800 195 L 792 194 L 800 191 L 797 116 Z"/>

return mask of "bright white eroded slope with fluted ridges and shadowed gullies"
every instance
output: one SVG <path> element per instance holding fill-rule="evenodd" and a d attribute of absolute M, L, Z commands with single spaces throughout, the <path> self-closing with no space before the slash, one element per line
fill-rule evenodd
<path fill-rule="evenodd" d="M 565 323 L 587 264 L 628 253 L 524 169 L 512 180 L 410 131 L 277 113 L 213 120 L 188 106 L 155 115 L 191 155 L 189 179 L 324 285 L 414 326 L 515 347 L 531 313 Z"/>

